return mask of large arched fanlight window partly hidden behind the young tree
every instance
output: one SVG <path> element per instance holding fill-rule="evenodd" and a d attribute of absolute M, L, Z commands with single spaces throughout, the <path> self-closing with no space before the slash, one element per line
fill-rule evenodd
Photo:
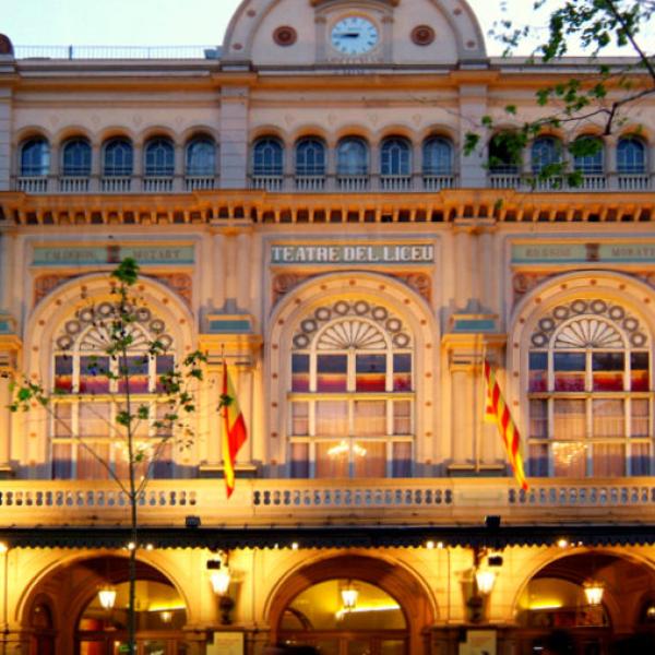
<path fill-rule="evenodd" d="M 53 479 L 106 479 L 109 472 L 100 458 L 116 476 L 128 477 L 126 432 L 116 420 L 117 414 L 126 409 L 128 385 L 132 412 L 145 405 L 151 417 L 135 426 L 135 448 L 146 455 L 158 448 L 150 473 L 154 477 L 171 476 L 171 446 L 164 439 L 168 434 L 154 424 L 167 413 L 158 395 L 163 391 L 158 380 L 172 369 L 174 355 L 148 355 L 148 344 L 156 338 L 166 353 L 171 353 L 172 337 L 165 322 L 142 307 L 126 335 L 132 340 L 127 361 L 110 357 L 107 344 L 114 311 L 111 302 L 80 309 L 55 337 L 50 424 Z M 119 374 L 123 371 L 128 380 Z M 145 464 L 140 466 L 140 474 L 145 474 Z"/>

